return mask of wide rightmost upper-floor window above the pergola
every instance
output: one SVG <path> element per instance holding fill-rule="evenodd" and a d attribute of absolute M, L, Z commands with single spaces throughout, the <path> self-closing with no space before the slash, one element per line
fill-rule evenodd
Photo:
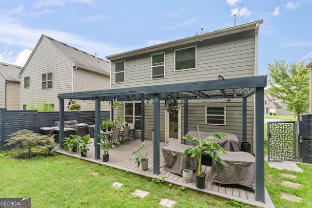
<path fill-rule="evenodd" d="M 196 46 L 175 50 L 175 71 L 196 69 Z"/>

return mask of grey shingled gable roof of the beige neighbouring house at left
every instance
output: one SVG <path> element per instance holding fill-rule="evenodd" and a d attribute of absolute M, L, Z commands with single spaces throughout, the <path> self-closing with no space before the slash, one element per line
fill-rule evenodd
<path fill-rule="evenodd" d="M 39 39 L 34 51 L 38 47 L 42 38 L 47 38 L 59 51 L 66 56 L 72 63 L 73 67 L 78 67 L 83 70 L 88 70 L 96 73 L 100 73 L 106 76 L 110 76 L 110 63 L 106 60 L 103 60 L 94 55 L 88 54 L 84 51 L 81 51 L 75 47 L 72 47 L 66 43 L 60 42 L 56 39 L 50 38 L 46 35 L 42 35 Z M 34 51 L 28 58 L 25 67 L 27 66 L 30 58 L 32 57 Z M 24 67 L 24 68 L 25 68 Z M 23 69 L 24 70 L 24 69 Z M 22 71 L 20 72 L 21 75 Z"/>

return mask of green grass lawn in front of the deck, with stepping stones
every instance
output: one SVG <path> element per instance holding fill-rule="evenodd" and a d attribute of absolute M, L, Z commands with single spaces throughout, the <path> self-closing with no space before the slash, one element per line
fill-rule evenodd
<path fill-rule="evenodd" d="M 176 201 L 174 208 L 250 207 L 61 154 L 16 160 L 0 152 L 0 164 L 0 196 L 31 197 L 32 208 L 160 208 L 161 198 Z M 150 194 L 133 196 L 136 189 Z"/>

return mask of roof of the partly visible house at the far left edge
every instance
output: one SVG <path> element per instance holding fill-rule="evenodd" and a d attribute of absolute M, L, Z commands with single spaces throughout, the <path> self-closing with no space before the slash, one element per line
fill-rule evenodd
<path fill-rule="evenodd" d="M 21 69 L 21 66 L 0 62 L 0 75 L 6 81 L 20 82 L 19 74 Z"/>

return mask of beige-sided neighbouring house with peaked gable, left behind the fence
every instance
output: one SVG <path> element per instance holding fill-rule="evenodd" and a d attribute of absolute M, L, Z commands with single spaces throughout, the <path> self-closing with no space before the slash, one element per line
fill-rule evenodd
<path fill-rule="evenodd" d="M 39 39 L 19 76 L 20 108 L 24 110 L 45 102 L 59 111 L 59 93 L 110 88 L 109 62 L 45 35 Z M 78 103 L 81 111 L 95 110 L 93 101 Z M 101 106 L 102 111 L 110 109 L 107 102 Z"/>

